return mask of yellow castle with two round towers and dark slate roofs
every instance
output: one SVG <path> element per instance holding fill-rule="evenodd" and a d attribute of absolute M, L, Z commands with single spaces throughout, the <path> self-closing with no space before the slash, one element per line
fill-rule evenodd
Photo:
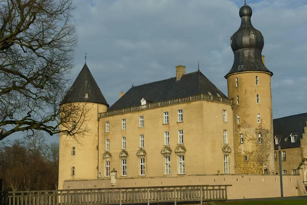
<path fill-rule="evenodd" d="M 60 135 L 59 189 L 91 180 L 86 188 L 107 187 L 112 169 L 123 187 L 149 186 L 149 179 L 186 185 L 194 176 L 275 174 L 273 73 L 251 7 L 245 4 L 239 16 L 230 38 L 228 97 L 200 70 L 185 73 L 180 65 L 176 77 L 132 86 L 109 106 L 85 63 L 61 106 L 87 104 L 91 132 L 78 142 Z"/>

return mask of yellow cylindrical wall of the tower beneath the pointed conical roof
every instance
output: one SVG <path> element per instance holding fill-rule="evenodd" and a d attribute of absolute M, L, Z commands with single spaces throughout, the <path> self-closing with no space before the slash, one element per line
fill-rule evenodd
<path fill-rule="evenodd" d="M 84 103 L 83 103 L 84 104 Z M 105 112 L 106 106 L 100 104 L 86 104 L 86 123 L 89 132 L 76 141 L 73 137 L 60 135 L 59 142 L 59 184 L 62 189 L 64 180 L 97 179 L 98 163 L 98 113 Z M 72 156 L 72 147 L 75 146 L 75 156 Z M 72 176 L 72 167 L 75 167 L 75 176 Z"/>

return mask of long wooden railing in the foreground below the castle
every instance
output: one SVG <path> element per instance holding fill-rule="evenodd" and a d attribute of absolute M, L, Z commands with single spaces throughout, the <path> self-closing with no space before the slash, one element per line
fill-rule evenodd
<path fill-rule="evenodd" d="M 231 185 L 6 192 L 0 196 L 0 204 L 202 204 L 205 201 L 226 201 L 229 186 Z"/>

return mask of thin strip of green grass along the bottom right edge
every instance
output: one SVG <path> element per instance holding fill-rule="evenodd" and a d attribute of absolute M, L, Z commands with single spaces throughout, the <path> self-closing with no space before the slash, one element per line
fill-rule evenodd
<path fill-rule="evenodd" d="M 207 202 L 206 205 L 307 205 L 306 199 Z"/>

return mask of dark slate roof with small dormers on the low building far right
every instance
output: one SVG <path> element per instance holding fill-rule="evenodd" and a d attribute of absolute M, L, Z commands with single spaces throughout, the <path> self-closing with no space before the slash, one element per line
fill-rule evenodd
<path fill-rule="evenodd" d="M 304 133 L 306 122 L 307 113 L 273 119 L 274 137 L 278 137 L 281 149 L 300 147 L 300 139 Z M 291 142 L 291 134 L 297 135 L 295 142 Z M 285 141 L 286 138 L 287 140 Z M 275 140 L 274 149 L 278 149 L 278 145 L 275 145 Z"/>

